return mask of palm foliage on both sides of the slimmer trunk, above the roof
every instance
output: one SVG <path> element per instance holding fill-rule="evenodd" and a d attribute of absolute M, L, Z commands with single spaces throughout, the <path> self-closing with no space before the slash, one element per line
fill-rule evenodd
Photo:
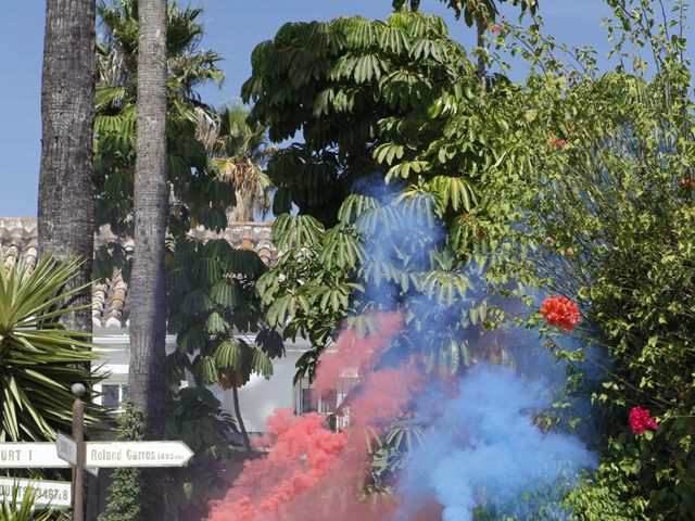
<path fill-rule="evenodd" d="M 101 2 L 104 29 L 97 48 L 97 119 L 94 123 L 94 182 L 97 224 L 111 225 L 119 237 L 132 236 L 132 183 L 136 151 L 136 92 L 138 18 L 136 0 Z M 220 58 L 203 51 L 200 42 L 202 10 L 168 7 L 167 54 L 169 77 L 167 111 L 167 166 L 173 201 L 168 231 L 175 238 L 202 225 L 219 230 L 227 224 L 226 208 L 233 204 L 229 183 L 208 161 L 216 138 L 216 113 L 200 101 L 197 88 L 220 85 Z M 125 264 L 124 252 L 113 245 L 97 252 L 97 276 Z M 103 271 L 103 272 L 102 272 Z"/>

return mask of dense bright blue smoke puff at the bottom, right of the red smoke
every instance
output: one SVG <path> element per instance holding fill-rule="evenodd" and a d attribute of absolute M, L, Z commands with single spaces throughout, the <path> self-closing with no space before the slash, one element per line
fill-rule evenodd
<path fill-rule="evenodd" d="M 404 503 L 396 519 L 408 519 L 432 496 L 444 507 L 444 521 L 472 520 L 479 506 L 527 519 L 539 507 L 535 492 L 543 503 L 548 491 L 559 499 L 596 460 L 579 439 L 543 433 L 533 423 L 530 414 L 549 405 L 544 394 L 508 368 L 481 364 L 459 381 L 455 396 L 441 390 L 422 395 L 419 412 L 428 428 L 399 483 Z"/>

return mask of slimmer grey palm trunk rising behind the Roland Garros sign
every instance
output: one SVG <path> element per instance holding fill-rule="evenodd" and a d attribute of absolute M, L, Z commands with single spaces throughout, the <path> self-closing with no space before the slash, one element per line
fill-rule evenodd
<path fill-rule="evenodd" d="M 138 16 L 135 260 L 131 275 L 129 392 L 146 416 L 146 439 L 162 435 L 166 384 L 164 253 L 166 165 L 166 0 L 140 0 Z M 143 472 L 142 519 L 163 519 L 156 472 Z"/>

